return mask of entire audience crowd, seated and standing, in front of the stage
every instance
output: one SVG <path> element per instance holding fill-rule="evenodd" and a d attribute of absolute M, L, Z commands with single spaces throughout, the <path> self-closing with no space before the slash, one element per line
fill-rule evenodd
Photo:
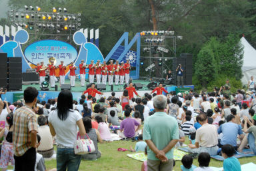
<path fill-rule="evenodd" d="M 112 92 L 99 99 L 82 94 L 79 102 L 70 90 L 62 90 L 57 98 L 40 102 L 36 88 L 28 87 L 23 101 L 0 100 L 0 168 L 7 170 L 11 162 L 15 170 L 46 170 L 43 158 L 53 156 L 56 145 L 57 170 L 79 170 L 81 160 L 100 158 L 97 143 L 116 133 L 123 140 L 138 140 L 130 148 L 147 154 L 141 170 L 172 170 L 173 149 L 183 146 L 186 136 L 191 154 L 183 156 L 181 170 L 211 170 L 211 155 L 225 158 L 225 171 L 241 170 L 233 154 L 244 148 L 256 154 L 255 91 L 231 94 L 229 88 L 227 82 L 223 90 L 162 95 L 159 86 L 157 93 L 137 98 L 124 90 L 123 96 Z M 94 152 L 75 154 L 78 134 L 93 141 Z"/>

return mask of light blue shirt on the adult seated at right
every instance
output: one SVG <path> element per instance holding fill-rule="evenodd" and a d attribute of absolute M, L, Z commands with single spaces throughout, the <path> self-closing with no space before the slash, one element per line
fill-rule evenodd
<path fill-rule="evenodd" d="M 218 134 L 221 133 L 223 133 L 221 145 L 231 144 L 232 146 L 237 146 L 237 134 L 241 135 L 243 131 L 241 125 L 227 122 L 219 126 Z"/>

